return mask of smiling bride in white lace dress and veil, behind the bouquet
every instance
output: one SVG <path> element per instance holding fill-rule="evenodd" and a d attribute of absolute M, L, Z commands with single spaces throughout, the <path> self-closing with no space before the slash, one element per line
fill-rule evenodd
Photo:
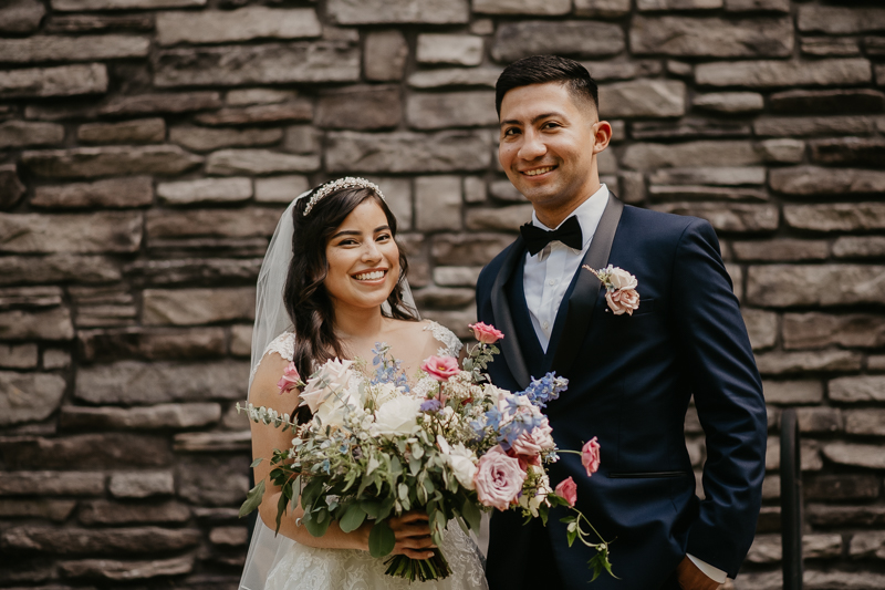
<path fill-rule="evenodd" d="M 249 401 L 281 414 L 299 405 L 299 392 L 280 393 L 277 382 L 289 362 L 302 377 L 329 359 L 366 359 L 386 342 L 414 375 L 430 355 L 457 356 L 461 343 L 439 324 L 418 321 L 406 277 L 406 258 L 395 241 L 396 219 L 381 189 L 363 178 L 341 178 L 299 196 L 280 220 L 258 281 Z M 299 422 L 310 420 L 301 407 Z M 287 448 L 292 433 L 252 424 L 254 458 Z M 254 468 L 267 479 L 269 460 Z M 241 590 L 369 590 L 409 588 L 384 573 L 383 559 L 368 555 L 372 521 L 353 532 L 333 522 L 313 537 L 299 519 L 283 516 L 274 535 L 280 489 L 267 479 L 259 519 L 249 548 Z M 393 518 L 394 553 L 413 559 L 433 555 L 427 515 L 420 510 Z M 481 557 L 460 527 L 449 526 L 441 544 L 452 573 L 419 588 L 486 588 Z"/>

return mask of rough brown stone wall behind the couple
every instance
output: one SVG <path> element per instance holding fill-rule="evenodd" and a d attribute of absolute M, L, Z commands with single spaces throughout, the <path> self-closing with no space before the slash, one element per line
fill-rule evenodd
<path fill-rule="evenodd" d="M 780 587 L 798 406 L 805 587 L 885 588 L 885 8 L 816 0 L 0 2 L 0 587 L 236 588 L 231 406 L 282 208 L 381 183 L 464 334 L 530 210 L 491 89 L 541 52 L 598 80 L 608 186 L 719 231 L 772 436 L 736 586 Z"/>

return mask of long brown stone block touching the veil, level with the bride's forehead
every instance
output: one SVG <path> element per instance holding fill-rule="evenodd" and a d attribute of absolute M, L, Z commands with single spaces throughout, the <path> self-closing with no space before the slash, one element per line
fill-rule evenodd
<path fill-rule="evenodd" d="M 183 238 L 188 236 L 270 237 L 273 235 L 282 213 L 282 209 L 263 207 L 249 207 L 237 210 L 150 210 L 147 213 L 147 236 L 150 241 L 156 238 Z M 267 246 L 263 247 L 260 256 L 263 256 L 263 250 L 267 250 Z"/>

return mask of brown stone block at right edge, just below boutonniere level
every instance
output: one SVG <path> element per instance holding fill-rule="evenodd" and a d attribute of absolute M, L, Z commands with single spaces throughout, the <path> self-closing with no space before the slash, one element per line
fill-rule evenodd
<path fill-rule="evenodd" d="M 787 313 L 783 317 L 785 349 L 881 348 L 885 345 L 885 318 L 867 313 L 831 315 Z"/>

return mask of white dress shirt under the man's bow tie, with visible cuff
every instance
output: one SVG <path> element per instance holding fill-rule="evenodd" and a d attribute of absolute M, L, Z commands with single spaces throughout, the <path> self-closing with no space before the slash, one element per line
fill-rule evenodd
<path fill-rule="evenodd" d="M 556 313 L 560 310 L 560 304 L 562 304 L 562 298 L 565 297 L 565 291 L 569 290 L 574 273 L 577 272 L 581 261 L 587 253 L 587 249 L 590 249 L 590 242 L 593 241 L 593 235 L 596 232 L 596 227 L 600 225 L 600 219 L 602 219 L 602 214 L 605 213 L 607 204 L 608 187 L 602 185 L 593 196 L 582 203 L 570 216 L 576 217 L 577 222 L 581 225 L 583 244 L 580 250 L 554 240 L 534 256 L 525 252 L 525 273 L 522 278 L 522 288 L 525 291 L 525 304 L 529 307 L 529 315 L 532 320 L 534 333 L 538 335 L 538 342 L 541 343 L 544 352 L 550 346 L 550 335 L 553 332 L 553 323 L 556 321 Z M 564 222 L 565 219 L 563 219 Z M 559 226 L 554 228 L 546 227 L 538 220 L 538 216 L 534 213 L 532 213 L 532 225 L 546 231 L 559 229 Z M 714 581 L 719 583 L 726 581 L 726 572 L 719 568 L 710 566 L 690 553 L 688 559 Z"/>

